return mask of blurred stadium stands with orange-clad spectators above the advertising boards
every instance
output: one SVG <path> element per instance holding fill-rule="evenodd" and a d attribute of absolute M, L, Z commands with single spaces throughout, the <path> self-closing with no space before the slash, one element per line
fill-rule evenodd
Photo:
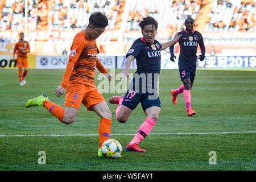
<path fill-rule="evenodd" d="M 150 15 L 158 20 L 158 40 L 169 40 L 184 28 L 184 20 L 196 20 L 205 44 L 253 44 L 256 40 L 255 0 L 28 0 L 27 39 L 64 42 L 88 25 L 89 15 L 104 12 L 109 26 L 98 42 L 129 45 L 141 36 L 139 20 Z M 70 18 L 70 19 L 69 19 Z M 24 1 L 0 2 L 0 38 L 16 42 L 24 31 Z M 70 28 L 69 28 L 70 26 Z M 67 38 L 68 31 L 70 37 Z M 244 34 L 246 32 L 246 34 Z M 5 35 L 5 36 L 3 36 Z M 63 36 L 65 35 L 65 36 Z"/>

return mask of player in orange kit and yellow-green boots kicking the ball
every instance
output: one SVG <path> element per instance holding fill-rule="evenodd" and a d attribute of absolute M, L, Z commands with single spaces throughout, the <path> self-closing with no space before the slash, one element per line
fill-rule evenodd
<path fill-rule="evenodd" d="M 98 156 L 102 156 L 101 145 L 110 137 L 112 113 L 94 82 L 94 72 L 97 68 L 109 81 L 112 75 L 101 64 L 97 57 L 96 39 L 105 31 L 108 19 L 100 12 L 94 12 L 89 17 L 85 30 L 76 34 L 69 55 L 69 61 L 61 84 L 55 89 L 59 97 L 66 91 L 65 109 L 48 100 L 46 94 L 28 100 L 25 107 L 44 106 L 60 122 L 67 125 L 73 123 L 82 103 L 88 110 L 100 116 L 100 143 Z"/>

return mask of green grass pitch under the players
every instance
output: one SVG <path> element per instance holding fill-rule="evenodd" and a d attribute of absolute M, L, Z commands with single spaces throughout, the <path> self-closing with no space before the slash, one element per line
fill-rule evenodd
<path fill-rule="evenodd" d="M 63 106 L 65 97 L 54 93 L 63 73 L 31 69 L 27 84 L 19 86 L 16 69 L 0 70 L 0 170 L 256 170 L 255 70 L 197 70 L 191 91 L 196 117 L 187 117 L 183 94 L 172 105 L 169 90 L 181 84 L 179 73 L 162 70 L 162 110 L 152 135 L 140 143 L 143 154 L 124 151 L 145 119 L 141 106 L 129 121 L 118 123 L 116 105 L 108 104 L 113 113 L 110 138 L 123 147 L 120 159 L 97 157 L 98 136 L 89 134 L 98 133 L 100 119 L 84 106 L 72 125 L 60 123 L 44 107 L 24 107 L 41 93 Z M 108 101 L 114 94 L 103 96 Z M 39 151 L 46 152 L 45 165 L 38 164 Z M 210 151 L 216 151 L 216 165 L 209 164 Z"/>

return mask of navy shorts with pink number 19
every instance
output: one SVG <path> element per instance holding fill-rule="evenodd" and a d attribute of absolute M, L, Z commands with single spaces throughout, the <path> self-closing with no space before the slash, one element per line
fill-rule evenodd
<path fill-rule="evenodd" d="M 123 98 L 122 105 L 134 110 L 139 102 L 141 102 L 141 106 L 144 111 L 153 106 L 161 107 L 160 98 L 158 96 L 155 98 L 155 96 L 152 97 L 152 94 L 137 94 L 135 91 L 131 90 L 127 90 L 125 98 Z"/>

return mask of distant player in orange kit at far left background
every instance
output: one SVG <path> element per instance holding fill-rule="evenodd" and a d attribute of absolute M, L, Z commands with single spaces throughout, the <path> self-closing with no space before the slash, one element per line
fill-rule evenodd
<path fill-rule="evenodd" d="M 19 68 L 19 85 L 25 85 L 26 80 L 24 79 L 28 72 L 28 63 L 27 63 L 27 53 L 30 53 L 30 44 L 24 40 L 24 34 L 19 34 L 19 42 L 15 44 L 13 51 L 13 59 L 15 59 L 15 55 L 17 55 L 17 67 Z M 24 68 L 24 72 L 22 73 L 22 67 Z"/>

